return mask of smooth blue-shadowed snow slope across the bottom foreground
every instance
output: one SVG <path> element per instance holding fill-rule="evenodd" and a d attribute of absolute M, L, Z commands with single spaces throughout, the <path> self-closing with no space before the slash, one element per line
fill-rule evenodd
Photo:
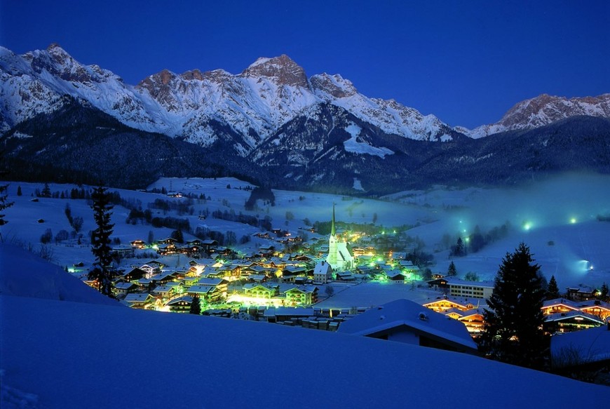
<path fill-rule="evenodd" d="M 608 387 L 358 335 L 4 295 L 0 303 L 3 408 L 470 408 L 465 385 L 502 407 L 610 398 Z M 430 393 L 433 384 L 442 394 Z"/>

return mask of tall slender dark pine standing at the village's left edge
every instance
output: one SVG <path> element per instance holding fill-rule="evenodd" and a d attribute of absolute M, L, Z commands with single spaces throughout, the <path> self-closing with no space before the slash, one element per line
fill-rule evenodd
<path fill-rule="evenodd" d="M 112 215 L 110 210 L 113 206 L 110 203 L 110 195 L 104 187 L 93 189 L 91 199 L 93 199 L 93 219 L 97 229 L 91 234 L 91 252 L 95 256 L 95 262 L 93 270 L 89 271 L 89 279 L 97 281 L 100 293 L 112 296 L 110 235 L 114 224 L 110 223 Z"/>

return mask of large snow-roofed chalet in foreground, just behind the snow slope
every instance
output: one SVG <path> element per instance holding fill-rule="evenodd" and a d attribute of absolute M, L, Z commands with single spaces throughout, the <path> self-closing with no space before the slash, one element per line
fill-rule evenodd
<path fill-rule="evenodd" d="M 365 311 L 339 325 L 339 333 L 395 342 L 477 353 L 477 344 L 456 320 L 409 300 L 395 300 Z"/>

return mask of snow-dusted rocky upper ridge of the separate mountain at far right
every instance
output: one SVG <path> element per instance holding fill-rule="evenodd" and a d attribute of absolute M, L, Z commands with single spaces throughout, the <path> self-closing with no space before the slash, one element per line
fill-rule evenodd
<path fill-rule="evenodd" d="M 539 95 L 524 100 L 504 114 L 499 122 L 479 126 L 473 130 L 456 127 L 471 138 L 482 138 L 506 130 L 534 129 L 570 116 L 587 115 L 610 117 L 610 94 L 597 97 L 565 98 Z"/>

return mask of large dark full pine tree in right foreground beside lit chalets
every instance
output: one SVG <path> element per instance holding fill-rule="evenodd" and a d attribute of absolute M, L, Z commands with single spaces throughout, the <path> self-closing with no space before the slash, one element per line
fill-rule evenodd
<path fill-rule="evenodd" d="M 545 290 L 540 267 L 533 262 L 524 243 L 514 253 L 506 253 L 487 300 L 490 309 L 484 309 L 481 347 L 499 361 L 541 368 L 548 342 L 541 329 Z"/>

